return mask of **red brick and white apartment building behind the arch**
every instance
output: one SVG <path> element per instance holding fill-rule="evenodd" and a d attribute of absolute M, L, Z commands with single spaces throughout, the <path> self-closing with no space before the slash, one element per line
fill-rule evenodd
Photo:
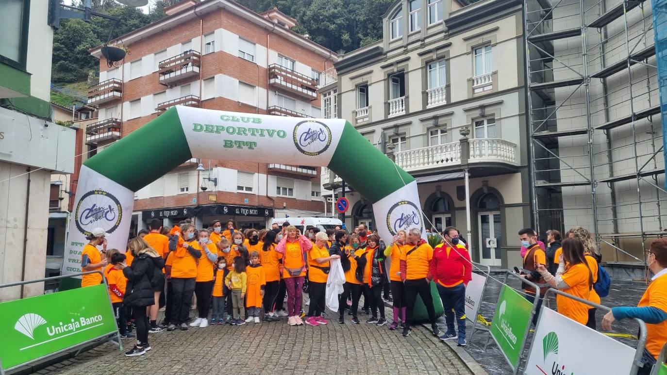
<path fill-rule="evenodd" d="M 338 58 L 291 31 L 294 19 L 228 0 L 183 0 L 165 13 L 112 41 L 129 50 L 117 66 L 107 65 L 101 46 L 91 49 L 100 59 L 99 83 L 89 91 L 89 105 L 99 109 L 87 127 L 91 149 L 101 151 L 174 105 L 321 117 L 319 77 Z M 321 214 L 320 179 L 319 168 L 279 160 L 191 159 L 135 194 L 132 230 L 152 218 L 165 225 L 233 218 L 245 228 L 286 214 Z"/>

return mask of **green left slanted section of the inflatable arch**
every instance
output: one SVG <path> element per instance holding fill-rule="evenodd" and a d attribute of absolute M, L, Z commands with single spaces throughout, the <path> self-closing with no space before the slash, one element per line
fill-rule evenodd
<path fill-rule="evenodd" d="M 104 155 L 97 154 L 83 164 L 137 191 L 191 157 L 176 107 L 172 107 L 123 137 L 122 142 L 107 147 Z"/>

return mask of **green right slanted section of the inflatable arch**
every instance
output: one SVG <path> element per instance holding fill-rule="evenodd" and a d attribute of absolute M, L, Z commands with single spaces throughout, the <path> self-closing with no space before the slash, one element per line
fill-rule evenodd
<path fill-rule="evenodd" d="M 372 203 L 414 181 L 410 173 L 397 168 L 349 121 L 345 123 L 343 135 L 328 167 L 351 187 L 364 192 Z"/>

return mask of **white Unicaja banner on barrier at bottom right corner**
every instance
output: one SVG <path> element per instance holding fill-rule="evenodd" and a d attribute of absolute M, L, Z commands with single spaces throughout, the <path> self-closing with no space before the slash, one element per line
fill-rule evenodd
<path fill-rule="evenodd" d="M 636 350 L 542 308 L 526 374 L 629 374 Z"/>

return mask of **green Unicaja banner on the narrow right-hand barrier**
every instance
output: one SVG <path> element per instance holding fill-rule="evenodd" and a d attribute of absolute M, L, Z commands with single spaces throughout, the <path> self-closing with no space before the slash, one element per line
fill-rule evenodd
<path fill-rule="evenodd" d="M 496 313 L 491 322 L 491 336 L 513 368 L 519 365 L 524 338 L 530 325 L 532 307 L 533 304 L 519 292 L 507 285 L 502 286 Z"/>

